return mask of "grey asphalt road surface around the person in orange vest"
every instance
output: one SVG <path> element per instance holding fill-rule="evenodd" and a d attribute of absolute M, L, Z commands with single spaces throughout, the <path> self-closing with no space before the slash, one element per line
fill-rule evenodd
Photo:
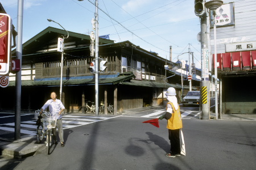
<path fill-rule="evenodd" d="M 154 111 L 155 112 L 155 111 Z M 46 148 L 13 160 L 3 169 L 255 169 L 255 121 L 183 119 L 186 156 L 167 158 L 166 120 L 160 128 L 142 124 L 152 117 L 118 116 L 64 130 L 65 147 Z M 132 117 L 131 117 L 132 116 Z"/>

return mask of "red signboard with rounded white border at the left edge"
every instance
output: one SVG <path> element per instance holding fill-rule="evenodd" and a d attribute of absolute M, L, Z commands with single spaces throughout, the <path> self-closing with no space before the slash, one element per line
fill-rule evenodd
<path fill-rule="evenodd" d="M 0 14 L 0 75 L 9 73 L 11 52 L 11 18 Z"/>

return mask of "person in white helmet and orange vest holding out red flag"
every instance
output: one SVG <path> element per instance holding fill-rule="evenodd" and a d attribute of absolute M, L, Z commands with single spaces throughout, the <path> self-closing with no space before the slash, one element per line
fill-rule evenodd
<path fill-rule="evenodd" d="M 167 153 L 167 157 L 180 156 L 180 129 L 182 128 L 180 107 L 177 103 L 177 97 L 175 88 L 169 87 L 166 92 L 168 103 L 166 105 L 166 113 L 160 116 L 158 119 L 167 120 L 167 129 L 169 132 L 169 139 L 171 143 L 170 153 Z"/>

